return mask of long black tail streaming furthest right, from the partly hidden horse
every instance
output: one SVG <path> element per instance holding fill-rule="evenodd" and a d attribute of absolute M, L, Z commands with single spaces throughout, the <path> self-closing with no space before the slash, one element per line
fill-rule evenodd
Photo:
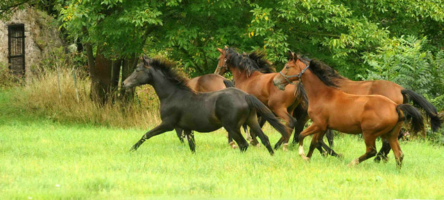
<path fill-rule="evenodd" d="M 403 89 L 401 93 L 402 96 L 404 96 L 404 102 L 411 102 L 413 106 L 421 109 L 425 114 L 427 114 L 427 118 L 430 119 L 432 131 L 438 131 L 438 129 L 443 125 L 443 120 L 439 118 L 436 107 L 414 91 Z"/>

